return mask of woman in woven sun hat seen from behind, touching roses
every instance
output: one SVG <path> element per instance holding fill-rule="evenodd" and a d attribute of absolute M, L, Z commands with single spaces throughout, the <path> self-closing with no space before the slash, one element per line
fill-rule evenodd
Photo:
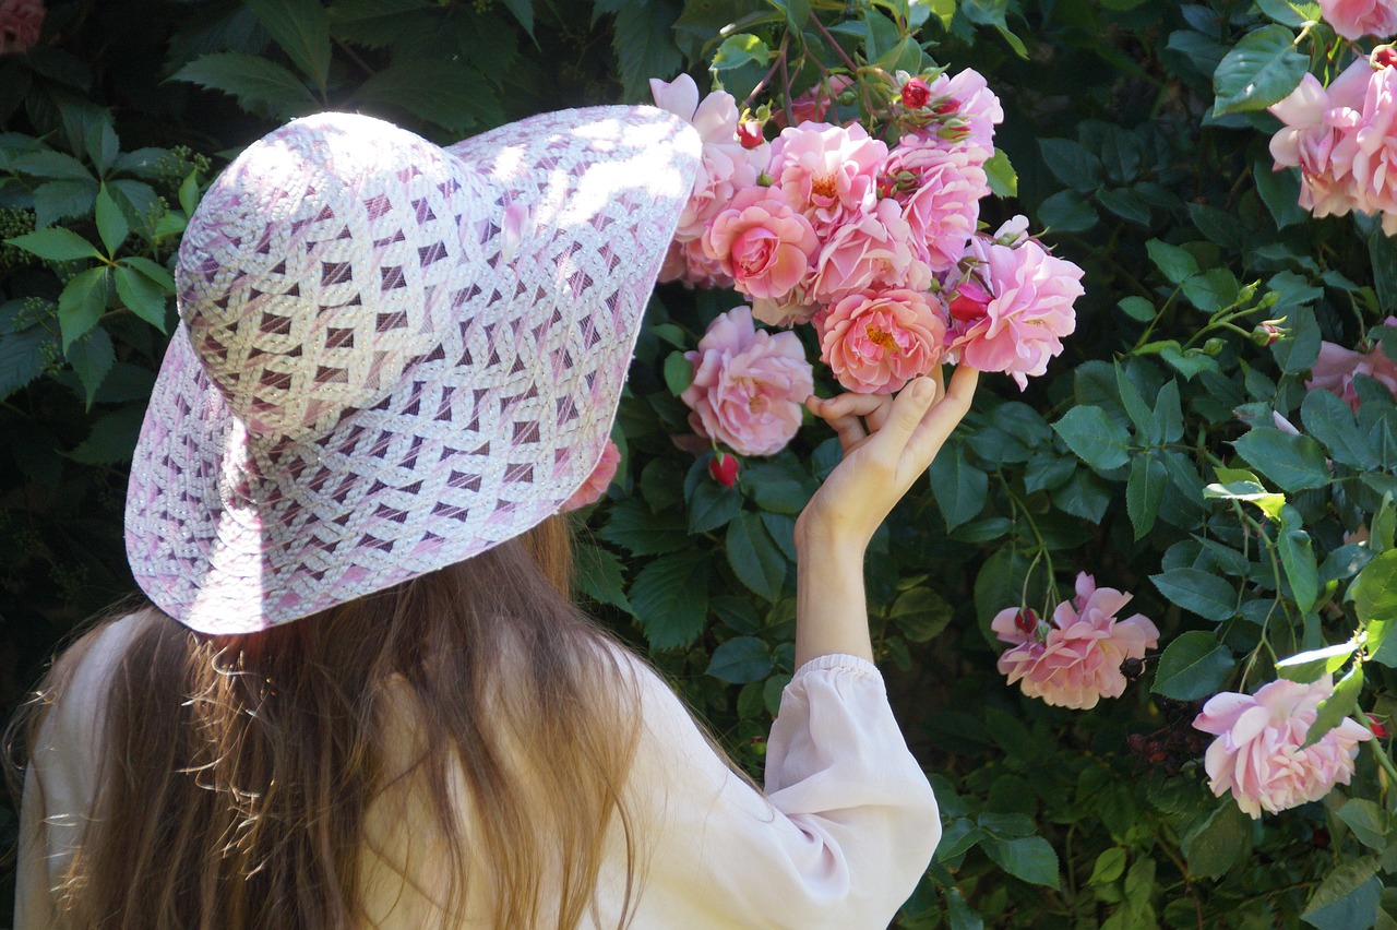
<path fill-rule="evenodd" d="M 17 926 L 884 926 L 940 835 L 862 589 L 975 373 L 812 398 L 766 793 L 567 600 L 693 183 L 669 115 L 437 148 L 362 116 L 243 152 L 191 218 L 127 553 L 149 606 L 35 705 Z M 865 429 L 868 434 L 865 434 Z"/>

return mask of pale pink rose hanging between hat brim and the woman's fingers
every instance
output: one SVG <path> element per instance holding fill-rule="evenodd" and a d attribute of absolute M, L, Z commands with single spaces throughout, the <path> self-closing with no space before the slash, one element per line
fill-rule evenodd
<path fill-rule="evenodd" d="M 719 316 L 698 341 L 694 380 L 679 395 L 700 436 L 739 455 L 775 455 L 800 429 L 800 405 L 814 390 L 805 346 L 793 332 L 752 325 L 747 307 Z"/>

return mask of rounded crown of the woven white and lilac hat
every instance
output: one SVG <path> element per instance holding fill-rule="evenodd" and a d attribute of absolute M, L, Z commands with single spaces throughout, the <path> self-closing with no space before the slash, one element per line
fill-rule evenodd
<path fill-rule="evenodd" d="M 180 246 L 180 316 L 250 433 L 313 440 L 440 344 L 453 293 L 497 263 L 500 212 L 485 179 L 411 133 L 298 120 L 205 194 Z"/>

